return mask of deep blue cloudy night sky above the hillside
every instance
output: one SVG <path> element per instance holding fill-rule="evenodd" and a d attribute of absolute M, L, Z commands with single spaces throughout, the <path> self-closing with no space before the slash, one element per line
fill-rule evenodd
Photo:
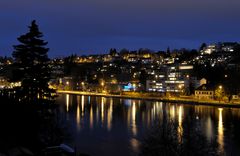
<path fill-rule="evenodd" d="M 51 57 L 240 41 L 240 0 L 1 0 L 0 56 L 37 20 Z"/>

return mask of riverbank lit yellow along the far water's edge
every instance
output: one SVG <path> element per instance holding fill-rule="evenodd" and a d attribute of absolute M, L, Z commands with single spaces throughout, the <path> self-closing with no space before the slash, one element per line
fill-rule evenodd
<path fill-rule="evenodd" d="M 131 95 L 115 95 L 108 93 L 95 93 L 95 92 L 82 92 L 82 91 L 67 91 L 67 90 L 58 90 L 59 94 L 76 94 L 76 95 L 91 95 L 91 96 L 103 96 L 103 97 L 115 97 L 115 98 L 127 98 L 127 99 L 141 99 L 141 100 L 157 100 L 163 102 L 172 102 L 172 103 L 183 103 L 191 105 L 207 105 L 207 106 L 218 106 L 218 107 L 233 107 L 240 108 L 240 102 L 226 102 L 226 101 L 217 101 L 217 100 L 200 100 L 191 96 L 181 96 L 181 97 L 156 97 L 156 96 L 146 96 L 142 93 L 136 93 Z"/>

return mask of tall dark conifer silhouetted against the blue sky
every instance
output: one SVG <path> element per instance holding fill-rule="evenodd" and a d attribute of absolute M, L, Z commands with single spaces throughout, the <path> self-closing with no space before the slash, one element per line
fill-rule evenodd
<path fill-rule="evenodd" d="M 50 80 L 50 67 L 48 51 L 45 46 L 47 42 L 42 40 L 43 34 L 39 31 L 36 21 L 33 20 L 29 26 L 29 32 L 18 38 L 19 45 L 15 45 L 12 53 L 17 67 L 15 75 L 22 85 L 19 94 L 23 100 L 51 99 L 48 82 Z"/>

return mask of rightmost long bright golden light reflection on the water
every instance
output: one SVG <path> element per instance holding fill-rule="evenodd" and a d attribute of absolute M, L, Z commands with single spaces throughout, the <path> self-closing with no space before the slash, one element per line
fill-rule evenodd
<path fill-rule="evenodd" d="M 222 108 L 218 108 L 218 143 L 219 143 L 219 150 L 224 152 L 224 127 L 223 127 L 223 120 L 222 120 Z"/>

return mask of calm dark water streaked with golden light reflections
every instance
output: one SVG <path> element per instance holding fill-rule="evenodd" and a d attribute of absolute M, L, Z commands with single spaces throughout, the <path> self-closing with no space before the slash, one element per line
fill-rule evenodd
<path fill-rule="evenodd" d="M 137 155 L 141 140 L 163 112 L 180 127 L 186 117 L 194 117 L 207 140 L 216 138 L 219 150 L 226 155 L 240 155 L 237 108 L 68 94 L 60 95 L 57 102 L 70 136 L 66 142 L 91 156 Z"/>

